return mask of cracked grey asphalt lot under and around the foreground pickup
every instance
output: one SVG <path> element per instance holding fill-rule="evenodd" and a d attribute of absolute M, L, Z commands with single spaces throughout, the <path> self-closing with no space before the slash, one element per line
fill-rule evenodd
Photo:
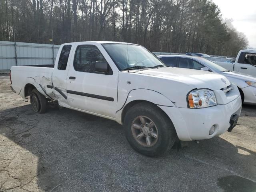
<path fill-rule="evenodd" d="M 32 111 L 0 76 L 0 191 L 256 191 L 256 106 L 231 133 L 138 154 L 118 123 L 58 107 Z"/>

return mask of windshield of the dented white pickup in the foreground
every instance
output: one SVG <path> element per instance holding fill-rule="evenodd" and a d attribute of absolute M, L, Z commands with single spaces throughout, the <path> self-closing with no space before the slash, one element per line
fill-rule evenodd
<path fill-rule="evenodd" d="M 132 44 L 102 44 L 120 70 L 166 66 L 146 48 Z"/>

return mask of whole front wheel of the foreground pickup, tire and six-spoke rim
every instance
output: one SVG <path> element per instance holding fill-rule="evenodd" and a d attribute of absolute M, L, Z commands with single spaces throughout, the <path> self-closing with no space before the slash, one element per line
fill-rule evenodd
<path fill-rule="evenodd" d="M 146 156 L 158 156 L 170 150 L 176 131 L 168 116 L 154 104 L 140 103 L 124 117 L 124 132 L 132 148 Z"/>

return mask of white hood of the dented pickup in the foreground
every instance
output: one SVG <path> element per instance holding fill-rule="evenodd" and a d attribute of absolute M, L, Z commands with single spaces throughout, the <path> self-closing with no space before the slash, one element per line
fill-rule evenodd
<path fill-rule="evenodd" d="M 134 73 L 178 81 L 190 85 L 191 90 L 195 88 L 218 90 L 230 85 L 230 81 L 221 74 L 194 69 L 161 67 L 156 69 L 138 70 Z"/>

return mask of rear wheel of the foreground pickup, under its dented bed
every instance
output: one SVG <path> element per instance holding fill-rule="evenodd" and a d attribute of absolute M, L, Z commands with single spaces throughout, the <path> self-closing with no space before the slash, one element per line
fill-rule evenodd
<path fill-rule="evenodd" d="M 36 89 L 31 91 L 30 104 L 32 106 L 32 110 L 36 113 L 44 113 L 46 111 L 46 98 Z"/>

